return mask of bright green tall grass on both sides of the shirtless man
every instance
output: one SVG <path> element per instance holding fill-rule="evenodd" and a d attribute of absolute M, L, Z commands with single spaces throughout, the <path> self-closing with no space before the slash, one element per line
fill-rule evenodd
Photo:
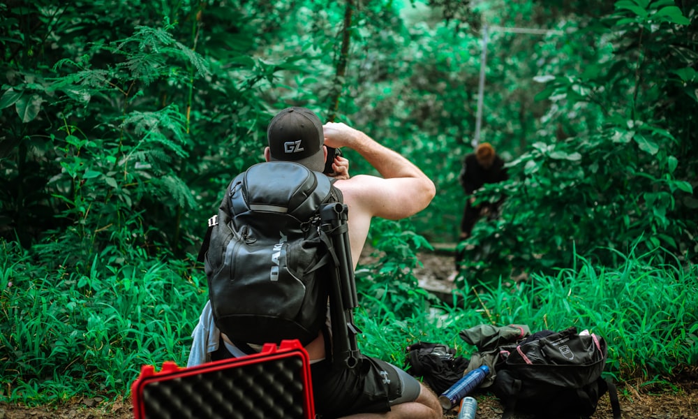
<path fill-rule="evenodd" d="M 0 243 L 0 250 L 0 399 L 128 397 L 142 365 L 186 364 L 207 297 L 200 270 L 174 259 L 117 267 L 94 258 L 89 275 L 47 272 L 14 244 Z M 458 291 L 454 304 L 436 306 L 422 296 L 413 311 L 394 307 L 405 307 L 401 298 L 415 305 L 422 293 L 390 286 L 376 293 L 380 284 L 364 282 L 359 344 L 368 355 L 403 365 L 405 347 L 415 341 L 449 344 L 468 356 L 475 348 L 459 332 L 480 323 L 575 325 L 607 338 L 609 371 L 619 381 L 651 383 L 698 365 L 698 267 L 658 265 L 652 253 L 624 260 L 611 269 L 577 257 L 554 276 Z"/>

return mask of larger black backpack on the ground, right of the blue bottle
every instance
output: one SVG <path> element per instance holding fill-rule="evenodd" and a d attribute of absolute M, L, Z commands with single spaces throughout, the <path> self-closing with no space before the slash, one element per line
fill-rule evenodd
<path fill-rule="evenodd" d="M 614 418 L 621 417 L 616 389 L 604 380 L 607 344 L 572 327 L 530 335 L 519 344 L 502 346 L 489 388 L 504 404 L 503 418 L 514 412 L 535 418 L 591 418 L 609 392 Z"/>

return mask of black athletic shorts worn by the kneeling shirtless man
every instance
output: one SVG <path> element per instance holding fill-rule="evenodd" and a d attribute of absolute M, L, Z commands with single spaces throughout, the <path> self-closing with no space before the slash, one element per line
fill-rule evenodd
<path fill-rule="evenodd" d="M 211 353 L 212 360 L 232 358 L 223 344 Z M 361 355 L 354 368 L 334 367 L 322 360 L 311 364 L 315 413 L 332 419 L 355 413 L 383 413 L 390 406 L 414 402 L 419 381 L 402 369 L 377 358 Z"/>

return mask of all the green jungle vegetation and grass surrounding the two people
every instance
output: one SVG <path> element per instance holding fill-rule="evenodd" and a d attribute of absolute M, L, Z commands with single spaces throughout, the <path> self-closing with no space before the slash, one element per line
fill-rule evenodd
<path fill-rule="evenodd" d="M 690 0 L 0 3 L 0 399 L 123 396 L 141 365 L 186 363 L 206 220 L 288 105 L 362 129 L 437 186 L 423 212 L 372 226 L 376 263 L 357 272 L 366 353 L 401 364 L 415 340 L 467 354 L 457 333 L 479 323 L 577 325 L 607 338 L 618 381 L 671 389 L 698 367 L 697 13 Z M 477 199 L 505 203 L 459 244 L 460 292 L 441 304 L 412 270 L 456 242 L 477 140 L 510 172 Z M 352 175 L 374 173 L 345 154 Z"/>

